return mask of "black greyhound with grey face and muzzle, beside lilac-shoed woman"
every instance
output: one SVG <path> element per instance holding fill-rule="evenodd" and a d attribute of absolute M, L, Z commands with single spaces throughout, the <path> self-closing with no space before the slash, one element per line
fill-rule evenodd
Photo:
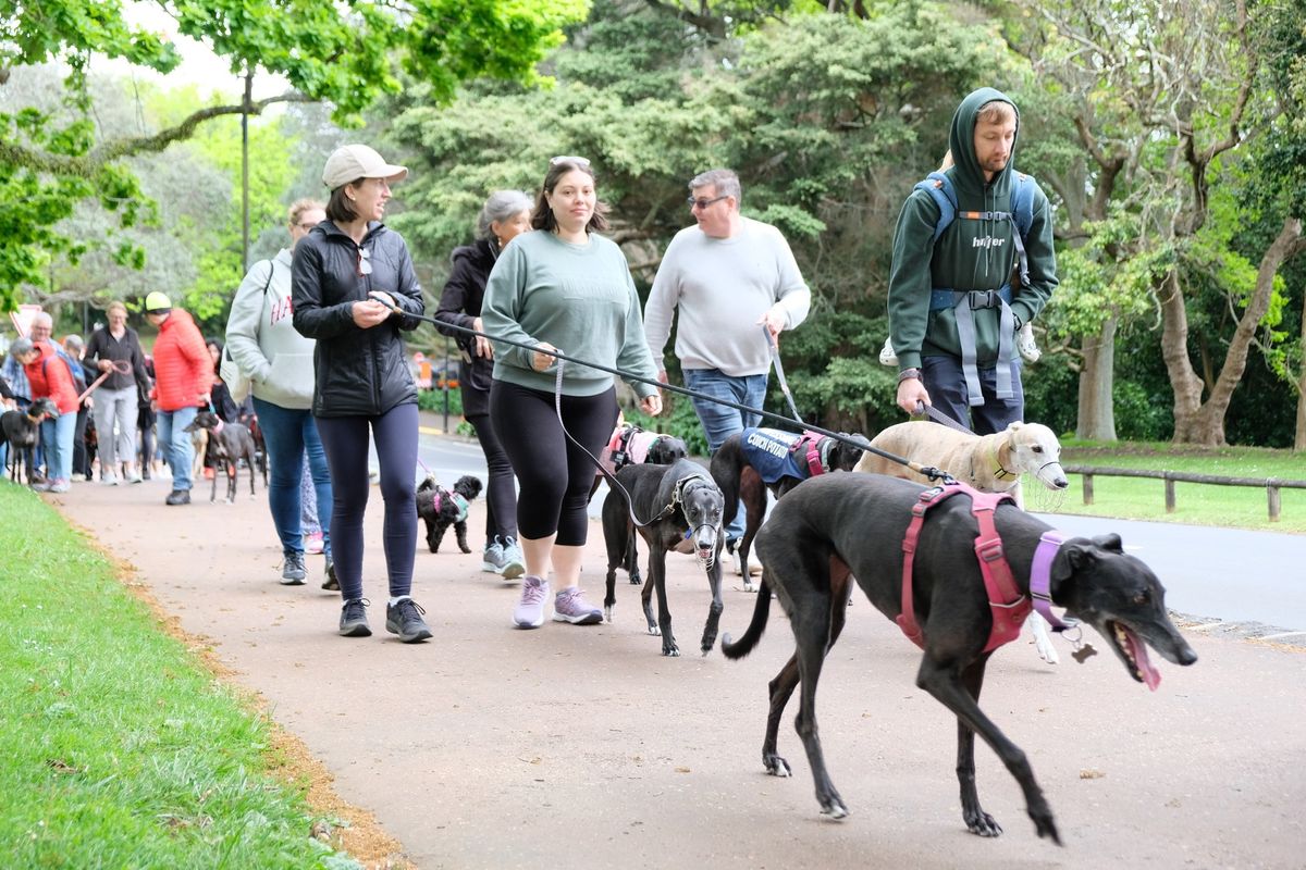
<path fill-rule="evenodd" d="M 703 655 L 707 655 L 717 642 L 717 626 L 724 608 L 718 558 L 724 511 L 721 490 L 707 470 L 690 459 L 680 459 L 671 466 L 627 466 L 616 473 L 616 483 L 620 488 L 614 487 L 603 501 L 603 540 L 607 544 L 605 617 L 609 622 L 613 621 L 616 569 L 626 565 L 627 549 L 633 544 L 633 510 L 636 519 L 648 523 L 639 527 L 639 533 L 649 549 L 649 582 L 643 590 L 644 618 L 648 621 L 649 634 L 662 635 L 662 655 L 680 655 L 675 635 L 671 634 L 671 610 L 666 603 L 666 553 L 682 540 L 690 539 L 712 588 L 708 621 L 703 626 L 701 648 Z M 622 488 L 631 493 L 629 506 Z M 654 590 L 658 607 L 656 621 L 649 603 Z"/>

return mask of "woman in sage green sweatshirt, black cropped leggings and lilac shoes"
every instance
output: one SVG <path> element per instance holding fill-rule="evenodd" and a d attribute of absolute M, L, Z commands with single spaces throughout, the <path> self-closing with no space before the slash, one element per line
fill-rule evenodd
<path fill-rule="evenodd" d="M 490 419 L 521 485 L 517 532 L 526 577 L 513 623 L 522 629 L 545 622 L 550 563 L 558 584 L 554 620 L 590 625 L 603 618 L 576 586 L 594 463 L 567 440 L 563 427 L 597 455 L 616 425 L 616 390 L 611 374 L 565 364 L 559 421 L 554 410 L 559 363 L 545 351 L 657 378 L 626 256 L 596 235 L 607 228 L 605 211 L 589 160 L 551 159 L 532 213 L 533 231 L 499 256 L 481 308 L 488 335 L 535 348 L 495 342 L 490 387 Z M 645 413 L 662 411 L 657 387 L 629 383 Z"/>

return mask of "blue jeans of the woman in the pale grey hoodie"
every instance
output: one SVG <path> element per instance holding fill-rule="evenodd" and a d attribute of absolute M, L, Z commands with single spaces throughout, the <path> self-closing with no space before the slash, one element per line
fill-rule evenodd
<path fill-rule="evenodd" d="M 308 408 L 283 408 L 255 397 L 253 412 L 259 415 L 259 428 L 268 445 L 268 506 L 272 524 L 281 539 L 282 553 L 304 552 L 304 530 L 299 519 L 299 484 L 303 477 L 304 454 L 317 493 L 317 520 L 323 527 L 323 548 L 330 554 L 330 473 L 326 471 L 326 453 L 323 450 L 317 423 Z"/>

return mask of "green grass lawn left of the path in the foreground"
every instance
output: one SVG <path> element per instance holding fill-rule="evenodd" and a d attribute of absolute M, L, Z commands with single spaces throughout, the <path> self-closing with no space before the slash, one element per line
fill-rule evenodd
<path fill-rule="evenodd" d="M 0 866 L 357 866 L 270 775 L 266 721 L 7 483 L 0 553 Z"/>

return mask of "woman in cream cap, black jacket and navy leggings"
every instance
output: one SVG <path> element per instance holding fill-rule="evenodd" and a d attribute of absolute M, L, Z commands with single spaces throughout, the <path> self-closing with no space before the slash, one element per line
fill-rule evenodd
<path fill-rule="evenodd" d="M 381 223 L 390 184 L 407 175 L 366 145 L 326 159 L 326 219 L 295 245 L 291 307 L 295 329 L 316 339 L 313 417 L 326 450 L 333 507 L 330 539 L 343 600 L 340 634 L 367 637 L 363 599 L 363 514 L 368 437 L 376 443 L 385 501 L 389 603 L 385 629 L 404 643 L 431 637 L 413 600 L 417 553 L 417 385 L 401 330 L 421 321 L 422 286 L 404 237 Z"/>

